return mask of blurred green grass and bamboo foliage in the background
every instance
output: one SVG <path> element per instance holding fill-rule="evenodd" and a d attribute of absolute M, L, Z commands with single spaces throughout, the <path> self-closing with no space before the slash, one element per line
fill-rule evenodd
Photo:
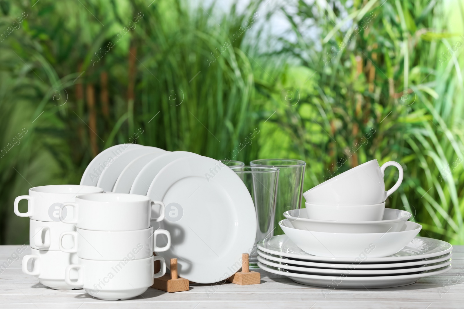
<path fill-rule="evenodd" d="M 398 161 L 405 178 L 387 206 L 411 211 L 422 236 L 464 243 L 461 2 L 275 12 L 252 1 L 226 13 L 150 2 L 0 1 L 1 244 L 28 241 L 15 196 L 79 183 L 99 151 L 137 132 L 142 145 L 246 164 L 304 159 L 305 189 Z M 291 25 L 280 37 L 264 35 L 274 13 Z"/>

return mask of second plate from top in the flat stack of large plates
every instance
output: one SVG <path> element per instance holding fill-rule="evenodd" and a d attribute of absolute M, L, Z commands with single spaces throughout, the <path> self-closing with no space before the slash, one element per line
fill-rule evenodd
<path fill-rule="evenodd" d="M 309 262 L 309 261 L 300 261 L 300 260 L 289 259 L 289 258 L 281 258 L 279 256 L 266 254 L 265 252 L 262 252 L 261 250 L 258 250 L 258 255 L 270 261 L 284 263 L 288 265 L 294 265 L 294 266 L 309 266 L 309 267 L 317 267 L 317 268 L 336 268 L 336 269 L 388 269 L 388 268 L 400 268 L 400 267 L 411 267 L 411 266 L 417 267 L 417 266 L 421 266 L 425 264 L 443 262 L 443 261 L 450 259 L 453 256 L 453 253 L 450 252 L 450 253 L 447 253 L 437 258 L 421 259 L 419 261 L 413 261 L 413 262 L 381 263 L 381 264 L 317 263 L 317 262 Z"/>

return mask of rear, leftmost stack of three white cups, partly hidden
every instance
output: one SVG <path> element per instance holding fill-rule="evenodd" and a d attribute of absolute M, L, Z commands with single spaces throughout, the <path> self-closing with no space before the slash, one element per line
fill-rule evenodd
<path fill-rule="evenodd" d="M 58 246 L 61 233 L 75 231 L 72 223 L 64 223 L 67 216 L 65 202 L 73 202 L 78 195 L 101 193 L 103 189 L 80 185 L 51 185 L 29 189 L 29 195 L 18 196 L 14 200 L 14 213 L 20 217 L 30 217 L 29 243 L 31 254 L 22 261 L 24 273 L 35 276 L 39 282 L 56 290 L 79 289 L 64 282 L 64 270 L 77 262 L 75 253 L 62 252 Z M 27 200 L 27 211 L 20 213 L 19 201 Z M 72 245 L 71 237 L 63 239 L 65 246 Z M 27 263 L 32 260 L 32 271 Z"/>

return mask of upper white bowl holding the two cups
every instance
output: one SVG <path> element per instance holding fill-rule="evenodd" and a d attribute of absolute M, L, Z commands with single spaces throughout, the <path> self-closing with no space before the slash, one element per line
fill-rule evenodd
<path fill-rule="evenodd" d="M 293 227 L 299 230 L 329 233 L 385 233 L 399 232 L 411 213 L 386 208 L 381 221 L 325 221 L 308 219 L 304 209 L 293 209 L 284 212 Z"/>

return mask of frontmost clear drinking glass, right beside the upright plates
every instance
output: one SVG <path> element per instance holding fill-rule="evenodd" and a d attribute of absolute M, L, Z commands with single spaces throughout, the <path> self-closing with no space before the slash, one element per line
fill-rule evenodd
<path fill-rule="evenodd" d="M 250 252 L 250 267 L 258 268 L 256 243 L 273 236 L 279 169 L 261 166 L 232 166 L 231 169 L 245 183 L 255 205 L 257 231 L 253 250 Z"/>

